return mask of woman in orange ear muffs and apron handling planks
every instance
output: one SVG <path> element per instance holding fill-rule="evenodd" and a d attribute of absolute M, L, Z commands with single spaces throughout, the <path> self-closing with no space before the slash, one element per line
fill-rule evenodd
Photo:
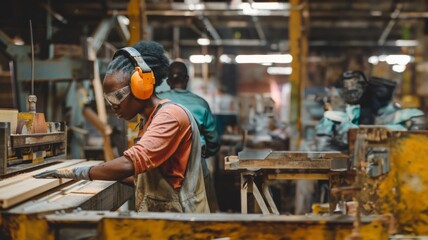
<path fill-rule="evenodd" d="M 123 180 L 134 176 L 138 211 L 208 213 L 197 124 L 186 108 L 154 94 L 155 86 L 167 76 L 168 65 L 163 47 L 156 42 L 141 41 L 118 50 L 107 67 L 104 97 L 117 117 L 144 117 L 139 140 L 112 161 L 36 177 Z"/>

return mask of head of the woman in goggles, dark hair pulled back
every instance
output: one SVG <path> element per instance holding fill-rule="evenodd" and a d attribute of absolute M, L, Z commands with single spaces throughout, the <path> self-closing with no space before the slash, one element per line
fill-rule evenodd
<path fill-rule="evenodd" d="M 140 53 L 144 62 L 152 70 L 155 77 L 155 86 L 160 85 L 167 76 L 169 65 L 163 47 L 153 41 L 140 41 L 132 47 Z M 135 88 L 132 91 L 129 88 L 136 61 L 126 52 L 122 52 L 117 52 L 108 65 L 103 81 L 103 90 L 105 96 L 108 96 L 106 97 L 107 101 L 111 104 L 117 116 L 129 120 L 141 112 L 144 101 L 140 101 L 132 95 L 132 92 L 136 90 Z M 126 107 L 121 107 L 123 105 L 126 105 Z"/>

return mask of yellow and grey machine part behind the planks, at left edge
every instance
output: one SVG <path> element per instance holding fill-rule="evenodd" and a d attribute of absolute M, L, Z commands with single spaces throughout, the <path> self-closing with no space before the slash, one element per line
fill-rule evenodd
<path fill-rule="evenodd" d="M 63 122 L 46 122 L 43 113 L 0 110 L 0 176 L 20 171 L 48 158 L 66 156 L 67 131 Z"/>

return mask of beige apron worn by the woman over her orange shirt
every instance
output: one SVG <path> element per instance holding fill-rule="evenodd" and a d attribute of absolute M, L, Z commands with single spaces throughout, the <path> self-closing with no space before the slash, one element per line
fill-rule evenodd
<path fill-rule="evenodd" d="M 171 102 L 161 101 L 160 106 Z M 175 104 L 175 103 L 172 103 Z M 192 127 L 192 149 L 180 189 L 173 189 L 158 168 L 150 169 L 136 177 L 136 209 L 147 212 L 209 213 L 201 166 L 201 142 L 193 115 L 183 106 Z M 152 115 L 159 109 L 156 107 Z M 147 124 L 150 125 L 152 116 Z"/>

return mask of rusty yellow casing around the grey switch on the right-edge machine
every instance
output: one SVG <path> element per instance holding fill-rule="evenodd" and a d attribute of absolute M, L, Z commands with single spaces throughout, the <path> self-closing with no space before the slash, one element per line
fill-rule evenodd
<path fill-rule="evenodd" d="M 428 132 L 359 131 L 367 131 L 368 149 L 388 149 L 390 165 L 379 176 L 363 174 L 362 212 L 392 214 L 400 234 L 428 235 Z"/>

